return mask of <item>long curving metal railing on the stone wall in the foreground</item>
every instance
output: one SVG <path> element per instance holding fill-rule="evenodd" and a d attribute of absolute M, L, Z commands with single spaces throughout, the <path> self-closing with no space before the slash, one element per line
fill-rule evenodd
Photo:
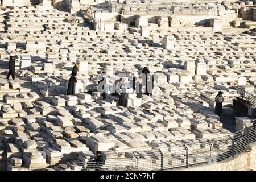
<path fill-rule="evenodd" d="M 79 165 L 85 170 L 152 171 L 189 168 L 234 158 L 235 155 L 249 150 L 249 145 L 253 142 L 256 142 L 256 120 L 231 135 L 193 143 L 181 140 L 169 147 L 129 152 L 125 157 L 102 157 L 97 161 L 88 160 Z"/>

